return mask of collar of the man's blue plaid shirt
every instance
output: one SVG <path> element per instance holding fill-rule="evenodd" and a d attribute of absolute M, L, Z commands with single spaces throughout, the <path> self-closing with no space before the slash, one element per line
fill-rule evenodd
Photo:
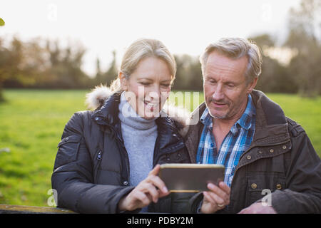
<path fill-rule="evenodd" d="M 238 128 L 239 128 L 238 126 L 240 126 L 245 130 L 249 130 L 252 127 L 253 115 L 255 115 L 255 106 L 253 105 L 252 97 L 249 94 L 248 104 L 246 105 L 243 115 L 240 117 L 240 119 L 238 119 L 238 121 L 236 121 L 236 123 L 230 129 L 233 135 L 238 133 Z M 205 108 L 202 116 L 200 117 L 200 122 L 210 129 L 213 128 L 213 120 L 212 120 L 212 116 L 210 116 L 210 113 L 208 112 L 208 108 Z"/>

